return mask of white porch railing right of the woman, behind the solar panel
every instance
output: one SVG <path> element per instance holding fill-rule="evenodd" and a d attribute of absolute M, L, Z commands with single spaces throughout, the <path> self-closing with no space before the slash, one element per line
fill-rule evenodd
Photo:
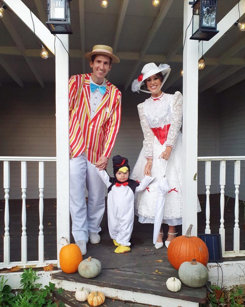
<path fill-rule="evenodd" d="M 206 227 L 205 233 L 210 234 L 210 185 L 211 185 L 211 161 L 220 161 L 220 237 L 223 257 L 245 256 L 245 251 L 240 251 L 240 229 L 239 229 L 239 185 L 240 185 L 240 161 L 245 160 L 245 156 L 231 157 L 198 157 L 198 161 L 205 161 L 205 185 L 206 185 Z M 234 191 L 235 191 L 235 206 L 234 206 L 234 248 L 233 251 L 225 251 L 225 228 L 224 228 L 224 188 L 225 188 L 225 164 L 226 161 L 234 161 Z"/>

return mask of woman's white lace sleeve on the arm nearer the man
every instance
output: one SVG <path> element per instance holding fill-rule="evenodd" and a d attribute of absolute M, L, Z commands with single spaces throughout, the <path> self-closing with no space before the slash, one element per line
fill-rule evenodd
<path fill-rule="evenodd" d="M 144 154 L 146 158 L 152 158 L 154 134 L 151 128 L 148 126 L 148 123 L 145 118 L 144 103 L 138 105 L 138 112 L 139 112 L 141 128 L 144 134 L 144 141 L 143 141 Z"/>

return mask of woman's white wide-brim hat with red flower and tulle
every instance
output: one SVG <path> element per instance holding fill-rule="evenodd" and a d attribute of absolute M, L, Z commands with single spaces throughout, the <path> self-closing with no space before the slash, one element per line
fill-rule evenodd
<path fill-rule="evenodd" d="M 138 79 L 135 79 L 131 85 L 132 91 L 133 92 L 138 92 L 142 91 L 145 93 L 151 93 L 150 91 L 146 91 L 146 90 L 141 90 L 141 86 L 144 84 L 144 80 L 147 79 L 150 76 L 155 75 L 158 72 L 161 72 L 164 76 L 163 78 L 163 82 L 161 84 L 161 88 L 164 85 L 165 81 L 168 78 L 168 75 L 171 71 L 171 68 L 168 64 L 160 64 L 158 67 L 156 66 L 155 63 L 148 63 L 145 64 L 145 66 L 143 67 L 143 69 L 141 70 L 141 74 Z"/>

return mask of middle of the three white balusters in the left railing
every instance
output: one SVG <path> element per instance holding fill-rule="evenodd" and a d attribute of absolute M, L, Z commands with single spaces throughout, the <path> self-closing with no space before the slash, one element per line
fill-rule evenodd
<path fill-rule="evenodd" d="M 27 162 L 21 161 L 21 191 L 22 191 L 22 235 L 21 235 L 21 262 L 27 263 L 27 235 L 26 235 L 26 189 L 27 189 Z"/>

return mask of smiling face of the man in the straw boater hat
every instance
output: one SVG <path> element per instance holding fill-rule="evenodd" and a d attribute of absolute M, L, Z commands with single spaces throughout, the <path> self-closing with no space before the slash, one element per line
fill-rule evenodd
<path fill-rule="evenodd" d="M 111 70 L 110 57 L 102 54 L 96 55 L 94 61 L 90 61 L 90 67 L 93 69 L 93 81 L 97 84 L 101 84 L 104 81 L 105 76 Z M 94 80 L 96 79 L 96 80 Z M 102 80 L 102 82 L 100 82 Z"/>

